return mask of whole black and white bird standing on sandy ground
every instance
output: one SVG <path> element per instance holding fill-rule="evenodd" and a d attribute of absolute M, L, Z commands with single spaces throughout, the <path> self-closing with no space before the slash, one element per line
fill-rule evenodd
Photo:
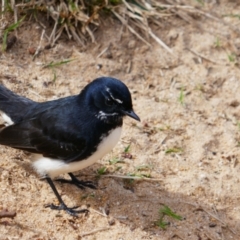
<path fill-rule="evenodd" d="M 46 178 L 59 201 L 48 207 L 72 215 L 87 210 L 67 207 L 52 178 L 68 173 L 71 180 L 63 182 L 94 188 L 72 172 L 112 150 L 120 138 L 124 116 L 140 121 L 127 86 L 110 77 L 95 79 L 79 95 L 41 103 L 0 85 L 0 111 L 5 121 L 0 144 L 34 153 L 34 169 Z"/>

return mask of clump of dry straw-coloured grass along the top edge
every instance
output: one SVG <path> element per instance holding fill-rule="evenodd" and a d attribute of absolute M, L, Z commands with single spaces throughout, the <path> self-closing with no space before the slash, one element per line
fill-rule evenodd
<path fill-rule="evenodd" d="M 1 9 L 1 29 L 6 29 L 4 17 L 6 13 L 11 13 L 14 17 L 14 24 L 17 24 L 22 16 L 25 19 L 35 19 L 43 28 L 43 35 L 53 46 L 64 33 L 69 39 L 74 39 L 79 45 L 84 46 L 88 41 L 95 42 L 94 32 L 103 21 L 109 18 L 118 19 L 132 34 L 145 44 L 150 46 L 150 39 L 154 39 L 166 51 L 173 54 L 172 49 L 167 46 L 157 36 L 151 26 L 158 26 L 172 15 L 184 19 L 191 23 L 193 21 L 191 14 L 206 15 L 212 19 L 216 17 L 206 14 L 199 7 L 201 1 L 193 1 L 196 6 L 186 5 L 183 1 L 181 5 L 174 1 L 166 0 L 63 0 L 63 1 L 45 1 L 45 0 L 2 0 Z M 8 14 L 9 15 L 9 14 Z M 52 22 L 51 33 L 47 34 L 47 26 L 41 22 L 39 16 L 43 15 Z M 150 26 L 151 25 L 151 26 Z"/>

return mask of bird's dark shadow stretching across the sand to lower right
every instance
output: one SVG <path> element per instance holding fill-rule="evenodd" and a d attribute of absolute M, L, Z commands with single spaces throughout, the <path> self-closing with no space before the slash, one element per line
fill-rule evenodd
<path fill-rule="evenodd" d="M 73 199 L 72 205 L 101 209 L 103 214 L 128 225 L 131 230 L 141 228 L 156 235 L 163 231 L 160 226 L 163 224 L 165 229 L 179 232 L 179 239 L 191 239 L 189 232 L 202 239 L 205 239 L 204 234 L 213 236 L 213 239 L 217 239 L 220 233 L 227 239 L 234 233 L 240 234 L 240 222 L 232 218 L 228 209 L 213 208 L 202 197 L 167 191 L 157 181 L 94 176 L 96 169 L 101 167 L 95 164 L 85 169 L 83 177 L 83 172 L 75 173 L 81 180 L 97 183 L 97 189 L 81 190 L 74 185 L 55 182 L 56 187 Z M 86 178 L 88 174 L 90 177 Z M 160 212 L 166 207 L 182 219 L 177 220 L 171 214 L 162 215 Z"/>

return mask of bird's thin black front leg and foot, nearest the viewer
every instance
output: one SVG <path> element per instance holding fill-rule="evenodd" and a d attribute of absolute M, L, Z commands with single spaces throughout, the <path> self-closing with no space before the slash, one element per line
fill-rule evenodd
<path fill-rule="evenodd" d="M 72 207 L 72 208 L 67 207 L 67 205 L 62 200 L 60 194 L 58 193 L 52 179 L 47 176 L 46 180 L 47 180 L 48 184 L 50 185 L 50 187 L 52 188 L 52 190 L 53 190 L 53 192 L 54 192 L 55 196 L 57 197 L 60 204 L 59 205 L 49 204 L 49 205 L 46 205 L 45 207 L 49 207 L 49 208 L 54 209 L 54 210 L 64 210 L 72 216 L 77 216 L 78 213 L 87 213 L 88 212 L 87 209 L 75 210 L 78 207 Z"/>

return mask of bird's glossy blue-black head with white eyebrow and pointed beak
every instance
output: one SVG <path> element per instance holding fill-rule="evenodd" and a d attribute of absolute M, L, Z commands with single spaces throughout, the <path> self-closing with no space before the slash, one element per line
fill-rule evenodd
<path fill-rule="evenodd" d="M 127 86 L 118 79 L 101 77 L 88 84 L 83 90 L 89 104 L 96 111 L 95 116 L 103 121 L 112 121 L 129 116 L 140 118 L 133 111 L 132 98 Z"/>

